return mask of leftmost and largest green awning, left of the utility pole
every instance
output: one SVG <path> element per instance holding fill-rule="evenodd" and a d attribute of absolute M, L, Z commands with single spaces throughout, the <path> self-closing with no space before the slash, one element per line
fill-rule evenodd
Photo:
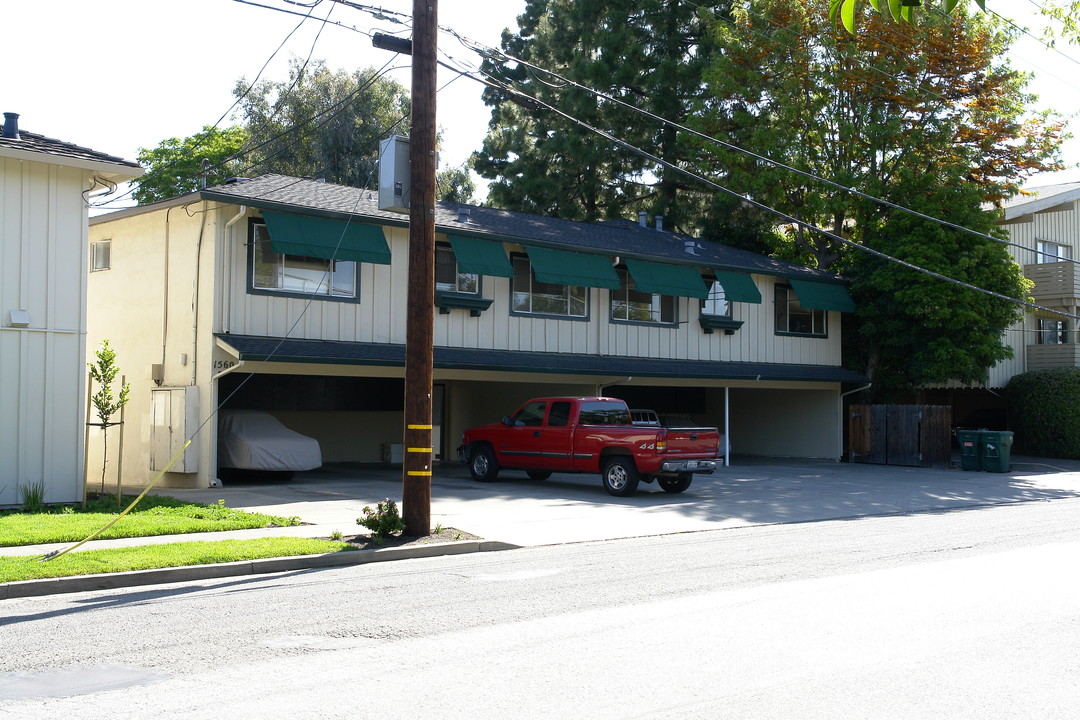
<path fill-rule="evenodd" d="M 381 226 L 267 210 L 262 219 L 275 253 L 390 264 L 390 246 Z"/>

